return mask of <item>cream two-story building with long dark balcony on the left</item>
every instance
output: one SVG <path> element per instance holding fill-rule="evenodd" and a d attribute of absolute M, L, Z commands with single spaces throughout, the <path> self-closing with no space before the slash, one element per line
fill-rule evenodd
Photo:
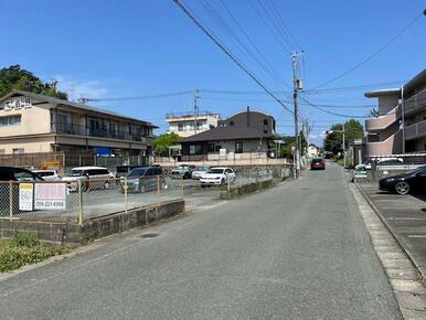
<path fill-rule="evenodd" d="M 155 125 L 50 96 L 12 90 L 0 98 L 0 154 L 63 151 L 145 163 Z"/>

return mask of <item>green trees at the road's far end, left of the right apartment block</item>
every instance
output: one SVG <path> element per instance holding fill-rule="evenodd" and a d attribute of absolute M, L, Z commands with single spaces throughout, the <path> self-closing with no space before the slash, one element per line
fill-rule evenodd
<path fill-rule="evenodd" d="M 339 152 L 343 151 L 342 143 L 343 143 L 343 125 L 342 124 L 336 124 L 332 125 L 329 131 L 333 131 L 331 134 L 328 134 L 323 141 L 323 148 L 326 151 L 331 151 L 333 154 L 337 154 Z M 355 119 L 350 119 L 344 124 L 344 142 L 345 142 L 345 149 L 348 148 L 349 143 L 353 142 L 356 139 L 361 139 L 364 136 L 364 128 L 360 124 L 360 121 Z"/>

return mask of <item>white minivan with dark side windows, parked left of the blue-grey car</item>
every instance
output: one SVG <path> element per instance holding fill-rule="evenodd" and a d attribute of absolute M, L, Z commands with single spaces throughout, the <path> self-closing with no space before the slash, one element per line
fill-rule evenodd
<path fill-rule="evenodd" d="M 88 181 L 92 182 L 90 189 L 109 189 L 114 173 L 109 172 L 107 168 L 103 167 L 77 167 L 71 170 L 70 174 L 62 178 L 62 181 L 68 182 L 70 191 L 77 191 L 78 180 L 82 181 L 83 190 L 88 188 Z"/>

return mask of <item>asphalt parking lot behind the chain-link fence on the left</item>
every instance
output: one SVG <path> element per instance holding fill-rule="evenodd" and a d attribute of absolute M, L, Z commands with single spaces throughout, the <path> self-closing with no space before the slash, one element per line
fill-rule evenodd
<path fill-rule="evenodd" d="M 1 190 L 4 194 L 1 198 L 3 201 L 0 210 L 0 216 L 3 218 L 10 218 L 10 198 L 8 188 L 3 188 Z M 219 188 L 201 188 L 198 180 L 171 179 L 167 177 L 166 188 L 160 189 L 159 191 L 152 190 L 138 193 L 129 192 L 125 195 L 119 183 L 109 183 L 108 189 L 90 188 L 88 191 L 82 192 L 81 199 L 78 192 L 76 191 L 66 192 L 66 205 L 65 209 L 62 210 L 20 211 L 19 184 L 14 184 L 13 189 L 13 218 L 43 218 L 51 221 L 74 222 L 78 220 L 79 207 L 82 207 L 83 211 L 83 218 L 92 218 L 180 198 L 185 200 L 188 207 L 209 205 L 220 198 Z"/>

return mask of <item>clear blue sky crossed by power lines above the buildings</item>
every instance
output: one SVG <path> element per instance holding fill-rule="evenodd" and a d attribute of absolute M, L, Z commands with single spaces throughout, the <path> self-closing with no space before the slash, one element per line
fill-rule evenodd
<path fill-rule="evenodd" d="M 291 84 L 288 52 L 254 10 L 255 7 L 265 14 L 259 0 L 224 1 L 274 71 Z M 262 1 L 270 14 L 268 21 L 276 25 L 281 25 L 281 21 L 274 15 L 270 1 L 298 45 L 306 51 L 302 76 L 307 89 L 336 77 L 375 52 L 425 9 L 425 2 L 420 0 Z M 264 74 L 256 62 L 247 57 L 238 43 L 221 28 L 223 24 L 215 24 L 209 4 L 239 41 L 251 45 L 221 0 L 187 0 L 185 4 L 270 89 L 288 90 L 281 81 Z M 56 78 L 71 98 L 143 96 L 194 88 L 259 90 L 171 0 L 0 0 L 0 8 L 2 12 L 9 12 L 0 20 L 0 67 L 21 64 L 45 81 Z M 269 28 L 278 32 L 274 24 Z M 425 31 L 426 17 L 422 17 L 380 55 L 324 88 L 387 82 L 395 82 L 388 85 L 391 87 L 400 86 L 398 82 L 409 79 L 426 67 Z M 286 40 L 279 38 L 279 41 L 292 43 L 289 36 Z M 249 50 L 255 52 L 253 46 Z M 315 104 L 370 105 L 374 102 L 365 99 L 363 93 L 377 87 L 381 86 L 306 97 Z M 288 94 L 280 97 L 289 99 Z M 159 134 L 166 129 L 166 113 L 190 110 L 192 102 L 192 94 L 187 94 L 102 102 L 94 106 L 150 120 L 161 127 Z M 246 106 L 271 113 L 278 119 L 279 132 L 292 132 L 291 115 L 265 95 L 201 93 L 200 108 L 203 110 L 227 116 Z M 301 115 L 313 121 L 311 138 L 316 142 L 322 140 L 320 134 L 326 126 L 344 120 L 306 105 L 300 108 Z M 328 110 L 364 116 L 370 109 L 366 106 Z"/>

